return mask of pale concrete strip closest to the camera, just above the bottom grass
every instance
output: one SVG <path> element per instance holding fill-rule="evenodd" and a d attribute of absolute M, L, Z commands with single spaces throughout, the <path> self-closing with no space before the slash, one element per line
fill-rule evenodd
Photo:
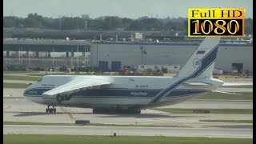
<path fill-rule="evenodd" d="M 208 138 L 253 138 L 252 129 L 134 127 L 134 126 L 18 126 L 4 125 L 3 134 L 141 135 Z"/>

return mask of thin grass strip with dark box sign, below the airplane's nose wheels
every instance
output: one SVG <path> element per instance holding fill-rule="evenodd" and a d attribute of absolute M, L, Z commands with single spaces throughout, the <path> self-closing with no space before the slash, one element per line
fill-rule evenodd
<path fill-rule="evenodd" d="M 3 122 L 3 125 L 38 125 L 38 126 L 77 126 L 74 123 L 49 123 L 49 122 Z M 162 127 L 157 125 L 118 125 L 118 124 L 102 124 L 102 123 L 90 123 L 86 126 L 145 126 L 145 127 Z M 165 127 L 190 127 L 190 126 L 165 126 Z"/>

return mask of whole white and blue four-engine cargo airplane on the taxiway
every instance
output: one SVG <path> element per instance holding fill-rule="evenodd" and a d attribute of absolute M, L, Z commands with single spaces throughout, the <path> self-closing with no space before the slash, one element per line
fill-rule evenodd
<path fill-rule="evenodd" d="M 46 113 L 55 113 L 54 106 L 69 106 L 92 108 L 93 113 L 140 114 L 150 107 L 174 105 L 225 83 L 212 76 L 219 42 L 205 38 L 174 77 L 47 75 L 24 96 L 46 105 Z"/>

